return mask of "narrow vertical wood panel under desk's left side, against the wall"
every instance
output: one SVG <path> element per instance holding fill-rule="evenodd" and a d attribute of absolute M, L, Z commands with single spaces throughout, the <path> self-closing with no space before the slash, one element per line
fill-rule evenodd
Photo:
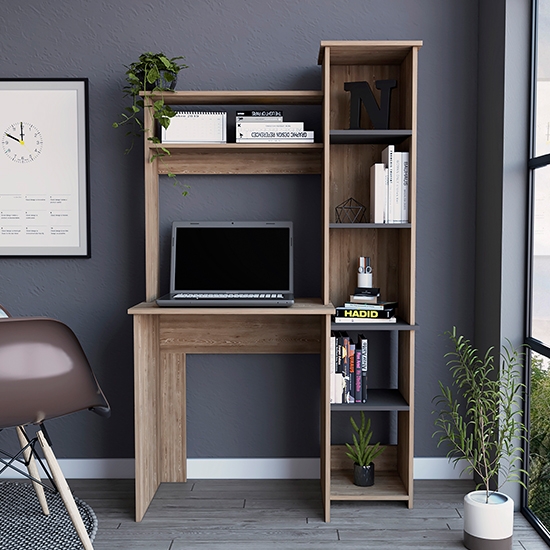
<path fill-rule="evenodd" d="M 161 481 L 187 481 L 185 353 L 160 355 Z"/>

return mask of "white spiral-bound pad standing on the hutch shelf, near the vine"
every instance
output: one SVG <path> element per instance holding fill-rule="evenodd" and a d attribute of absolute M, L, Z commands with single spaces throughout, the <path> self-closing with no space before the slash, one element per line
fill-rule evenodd
<path fill-rule="evenodd" d="M 226 143 L 227 113 L 179 111 L 162 128 L 162 143 Z"/>

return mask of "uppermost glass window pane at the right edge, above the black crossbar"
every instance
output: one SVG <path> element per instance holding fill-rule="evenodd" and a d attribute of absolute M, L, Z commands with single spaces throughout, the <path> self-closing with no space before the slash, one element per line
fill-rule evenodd
<path fill-rule="evenodd" d="M 535 156 L 550 153 L 550 2 L 539 0 L 537 15 Z"/>

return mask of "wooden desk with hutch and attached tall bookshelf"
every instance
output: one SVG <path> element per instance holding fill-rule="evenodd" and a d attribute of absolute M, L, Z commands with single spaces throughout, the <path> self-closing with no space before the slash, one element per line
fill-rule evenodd
<path fill-rule="evenodd" d="M 419 41 L 321 42 L 321 91 L 181 91 L 145 94 L 178 106 L 320 105 L 322 142 L 304 144 L 170 144 L 155 158 L 145 135 L 145 301 L 134 319 L 136 521 L 161 482 L 187 480 L 186 355 L 188 353 L 318 353 L 321 357 L 321 486 L 325 520 L 333 500 L 401 500 L 412 507 L 414 392 L 414 272 L 416 189 L 416 78 Z M 389 131 L 350 131 L 347 81 L 394 78 Z M 217 110 L 217 109 L 216 109 Z M 154 128 L 150 108 L 144 127 Z M 363 118 L 365 118 L 363 116 Z M 353 197 L 369 206 L 369 170 L 387 143 L 410 153 L 409 222 L 336 224 L 334 207 Z M 151 160 L 153 159 L 153 160 Z M 322 288 L 317 299 L 291 308 L 159 308 L 159 176 L 162 174 L 319 174 L 322 177 Z M 399 302 L 395 325 L 369 324 L 361 332 L 398 335 L 397 386 L 370 390 L 365 405 L 329 403 L 329 341 L 334 305 L 355 287 L 358 256 L 370 256 L 374 285 Z M 333 305 L 334 304 L 334 305 Z M 357 325 L 338 325 L 356 330 Z M 368 331 L 365 330 L 368 328 Z M 205 337 L 205 334 L 208 336 Z M 266 334 L 269 338 L 266 338 Z M 376 368 L 369 365 L 369 368 Z M 374 487 L 355 487 L 352 465 L 331 444 L 331 415 L 341 410 L 392 411 L 397 444 L 377 462 Z"/>

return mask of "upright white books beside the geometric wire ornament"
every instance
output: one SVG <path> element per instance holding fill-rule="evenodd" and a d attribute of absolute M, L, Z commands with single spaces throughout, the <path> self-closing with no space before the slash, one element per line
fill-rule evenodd
<path fill-rule="evenodd" d="M 409 153 L 388 145 L 382 162 L 370 169 L 370 218 L 372 223 L 409 221 Z"/>

